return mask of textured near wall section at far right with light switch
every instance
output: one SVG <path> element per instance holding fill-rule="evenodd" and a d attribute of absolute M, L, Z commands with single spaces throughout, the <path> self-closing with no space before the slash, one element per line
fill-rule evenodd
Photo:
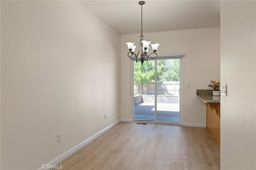
<path fill-rule="evenodd" d="M 220 168 L 256 169 L 256 2 L 221 1 Z"/>

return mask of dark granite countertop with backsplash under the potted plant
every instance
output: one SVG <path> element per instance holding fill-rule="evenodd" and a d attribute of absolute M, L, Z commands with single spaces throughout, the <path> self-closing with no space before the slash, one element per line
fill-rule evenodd
<path fill-rule="evenodd" d="M 196 96 L 204 103 L 220 103 L 220 96 L 212 96 L 212 90 L 196 90 Z"/>

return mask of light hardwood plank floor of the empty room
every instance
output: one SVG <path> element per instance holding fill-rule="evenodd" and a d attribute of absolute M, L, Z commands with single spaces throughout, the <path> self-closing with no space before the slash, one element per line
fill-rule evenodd
<path fill-rule="evenodd" d="M 220 150 L 206 128 L 120 122 L 58 164 L 62 170 L 215 170 Z"/>

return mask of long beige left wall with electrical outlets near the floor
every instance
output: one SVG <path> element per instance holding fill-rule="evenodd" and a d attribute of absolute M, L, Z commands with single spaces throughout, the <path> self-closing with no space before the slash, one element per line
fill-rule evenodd
<path fill-rule="evenodd" d="M 120 41 L 80 2 L 1 1 L 1 169 L 38 169 L 120 119 Z"/>

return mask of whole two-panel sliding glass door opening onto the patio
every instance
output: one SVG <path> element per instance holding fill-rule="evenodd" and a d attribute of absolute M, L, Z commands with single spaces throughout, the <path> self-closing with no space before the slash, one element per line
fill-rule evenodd
<path fill-rule="evenodd" d="M 180 122 L 180 58 L 134 62 L 134 120 Z"/>

